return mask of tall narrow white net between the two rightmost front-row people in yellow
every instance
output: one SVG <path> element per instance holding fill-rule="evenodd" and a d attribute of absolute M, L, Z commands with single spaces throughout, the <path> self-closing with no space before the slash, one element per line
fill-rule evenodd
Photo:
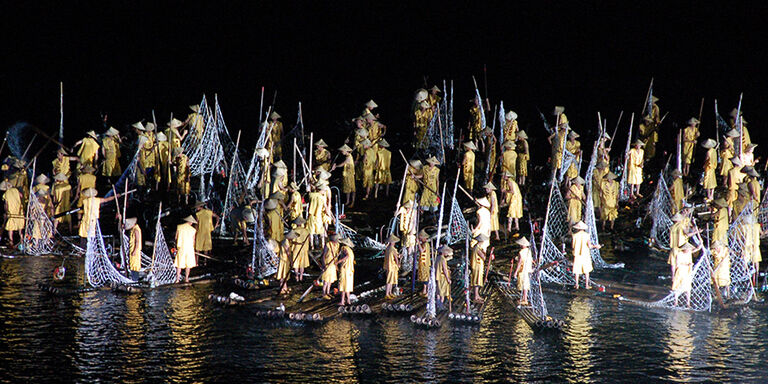
<path fill-rule="evenodd" d="M 728 227 L 728 249 L 731 261 L 731 284 L 729 296 L 735 300 L 749 302 L 755 288 L 752 285 L 752 275 L 755 270 L 751 259 L 753 231 L 752 203 L 748 203 L 736 220 Z"/>

